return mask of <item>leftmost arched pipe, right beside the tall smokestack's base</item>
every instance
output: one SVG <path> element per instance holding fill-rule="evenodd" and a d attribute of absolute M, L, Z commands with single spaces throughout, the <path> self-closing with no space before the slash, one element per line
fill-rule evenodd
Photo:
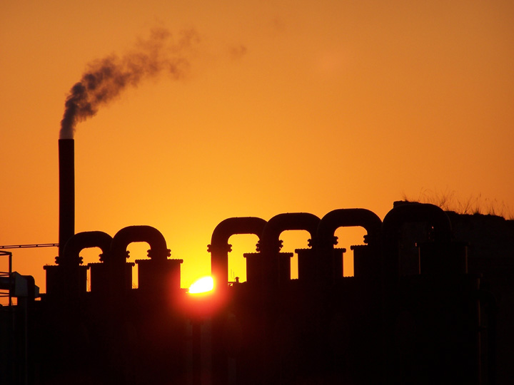
<path fill-rule="evenodd" d="M 85 231 L 75 234 L 66 242 L 64 255 L 59 258 L 59 265 L 81 265 L 80 252 L 88 247 L 99 247 L 102 251 L 100 260 L 109 253 L 112 237 L 103 231 Z"/>

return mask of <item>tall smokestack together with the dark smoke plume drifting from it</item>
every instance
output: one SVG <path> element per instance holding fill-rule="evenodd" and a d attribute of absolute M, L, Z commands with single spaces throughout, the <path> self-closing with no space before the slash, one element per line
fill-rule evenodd
<path fill-rule="evenodd" d="M 74 130 L 77 123 L 94 116 L 99 108 L 147 78 L 168 72 L 176 79 L 188 69 L 188 53 L 198 41 L 195 31 L 183 31 L 173 41 L 166 29 L 154 29 L 124 56 L 111 55 L 89 63 L 81 81 L 66 98 L 59 133 L 59 257 L 75 233 Z"/>

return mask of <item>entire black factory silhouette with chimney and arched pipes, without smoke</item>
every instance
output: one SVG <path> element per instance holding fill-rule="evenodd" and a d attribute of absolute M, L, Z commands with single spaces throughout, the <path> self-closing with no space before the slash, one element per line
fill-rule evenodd
<path fill-rule="evenodd" d="M 46 294 L 31 277 L 0 280 L 0 384 L 506 384 L 513 359 L 513 221 L 395 202 L 322 218 L 231 217 L 213 230 L 215 290 L 181 289 L 181 263 L 150 226 L 74 233 L 73 140 L 59 140 L 59 256 Z M 491 225 L 493 224 L 493 225 Z M 343 277 L 339 227 L 366 229 Z M 489 229 L 490 235 L 485 234 Z M 280 235 L 306 230 L 298 249 Z M 228 282 L 229 238 L 258 236 L 246 282 Z M 502 239 L 499 237 L 503 236 Z M 150 245 L 129 262 L 131 242 Z M 81 250 L 99 247 L 98 263 Z M 495 247 L 502 247 L 497 249 Z M 510 248 L 510 254 L 505 254 Z M 10 253 L 6 253 L 10 254 Z M 138 264 L 137 289 L 131 287 Z M 87 272 L 91 289 L 86 288 Z"/>

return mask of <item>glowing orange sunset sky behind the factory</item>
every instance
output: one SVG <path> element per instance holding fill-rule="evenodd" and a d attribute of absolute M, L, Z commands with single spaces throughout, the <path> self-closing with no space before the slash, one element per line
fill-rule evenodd
<path fill-rule="evenodd" d="M 76 124 L 75 230 L 156 227 L 182 287 L 210 273 L 228 217 L 383 219 L 405 197 L 514 215 L 512 1 L 1 1 L 0 245 L 58 242 L 72 86 L 105 58 L 156 49 L 163 68 Z M 363 233 L 338 230 L 338 247 Z M 283 251 L 307 238 L 284 232 Z M 256 237 L 230 242 L 244 280 Z M 57 249 L 11 251 L 44 292 Z"/>

